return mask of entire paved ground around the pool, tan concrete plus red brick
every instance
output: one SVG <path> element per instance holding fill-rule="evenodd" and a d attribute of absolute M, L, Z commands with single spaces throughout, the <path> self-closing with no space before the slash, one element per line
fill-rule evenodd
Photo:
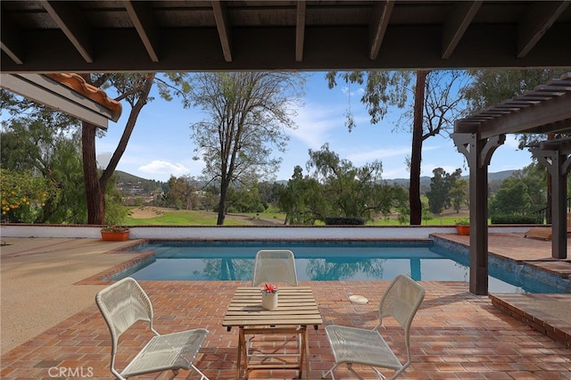
<path fill-rule="evenodd" d="M 468 244 L 468 236 L 440 235 Z M 3 243 L 7 245 L 2 246 L 0 253 L 0 376 L 49 377 L 49 368 L 72 367 L 93 368 L 93 377 L 109 378 L 109 332 L 94 301 L 95 293 L 104 284 L 95 278 L 132 260 L 136 253 L 119 251 L 133 242 L 6 237 Z M 525 239 L 522 234 L 491 234 L 489 247 L 495 254 L 535 262 L 538 267 L 562 276 L 571 273 L 569 260 L 549 260 L 550 242 Z M 195 326 L 208 328 L 210 334 L 197 367 L 211 379 L 234 375 L 237 336 L 235 331 L 228 333 L 221 326 L 221 319 L 236 286 L 247 284 L 144 281 L 141 285 L 153 301 L 161 333 Z M 326 324 L 369 326 L 388 282 L 302 285 L 313 289 Z M 403 378 L 571 379 L 571 351 L 565 343 L 557 341 L 561 334 L 567 342 L 571 336 L 571 313 L 565 311 L 571 304 L 571 294 L 488 297 L 468 293 L 468 285 L 462 282 L 422 282 L 422 285 L 426 287 L 426 299 L 412 326 L 413 363 Z M 365 295 L 368 304 L 349 302 L 348 295 L 353 293 Z M 504 302 L 505 310 L 516 318 L 509 317 L 492 302 L 499 306 Z M 531 319 L 517 318 L 525 315 Z M 549 334 L 541 332 L 542 328 L 551 329 L 551 335 L 557 336 L 546 336 Z M 390 328 L 387 334 L 389 339 L 393 338 Z M 322 328 L 310 332 L 310 352 L 311 378 L 319 378 L 333 362 Z M 372 376 L 368 370 L 362 374 L 365 378 Z M 294 375 L 291 371 L 258 371 L 250 377 Z M 344 369 L 336 375 L 348 376 Z M 160 378 L 169 376 L 166 373 Z M 194 378 L 187 371 L 181 371 L 177 378 L 186 376 Z"/>

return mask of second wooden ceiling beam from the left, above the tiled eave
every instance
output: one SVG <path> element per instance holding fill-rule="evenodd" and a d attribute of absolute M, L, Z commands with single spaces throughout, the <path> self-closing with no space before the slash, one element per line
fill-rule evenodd
<path fill-rule="evenodd" d="M 93 44 L 90 36 L 92 30 L 88 26 L 76 4 L 67 2 L 40 0 L 46 12 L 52 17 L 63 34 L 79 52 L 87 63 L 93 63 Z"/>

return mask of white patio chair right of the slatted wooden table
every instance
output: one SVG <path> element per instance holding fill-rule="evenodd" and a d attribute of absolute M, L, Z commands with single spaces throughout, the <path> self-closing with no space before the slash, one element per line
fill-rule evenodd
<path fill-rule="evenodd" d="M 325 331 L 335 356 L 335 365 L 327 374 L 335 379 L 335 368 L 345 363 L 347 368 L 359 378 L 362 378 L 352 368 L 353 364 L 370 366 L 378 378 L 384 379 L 376 368 L 390 368 L 395 372 L 391 379 L 401 375 L 410 365 L 410 324 L 417 313 L 420 303 L 425 298 L 425 289 L 410 277 L 398 275 L 386 289 L 378 305 L 378 323 L 372 329 L 349 326 L 326 326 Z M 407 361 L 402 364 L 394 355 L 393 350 L 383 339 L 378 329 L 383 325 L 383 318 L 393 317 L 404 329 L 404 343 L 407 351 Z"/>

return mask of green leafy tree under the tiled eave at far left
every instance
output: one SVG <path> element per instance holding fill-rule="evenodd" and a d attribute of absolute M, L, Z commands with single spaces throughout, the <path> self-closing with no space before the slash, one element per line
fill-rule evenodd
<path fill-rule="evenodd" d="M 45 178 L 50 192 L 35 223 L 87 221 L 86 198 L 81 175 L 78 120 L 44 105 L 3 97 L 11 117 L 3 120 L 1 161 L 4 169 L 29 172 Z"/>

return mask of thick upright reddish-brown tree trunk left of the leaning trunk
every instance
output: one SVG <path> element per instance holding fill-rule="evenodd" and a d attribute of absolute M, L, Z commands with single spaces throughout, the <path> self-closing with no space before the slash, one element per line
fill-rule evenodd
<path fill-rule="evenodd" d="M 105 224 L 105 195 L 99 186 L 99 173 L 95 158 L 95 125 L 83 121 L 81 145 L 83 155 L 83 180 L 87 196 L 87 224 Z"/>

